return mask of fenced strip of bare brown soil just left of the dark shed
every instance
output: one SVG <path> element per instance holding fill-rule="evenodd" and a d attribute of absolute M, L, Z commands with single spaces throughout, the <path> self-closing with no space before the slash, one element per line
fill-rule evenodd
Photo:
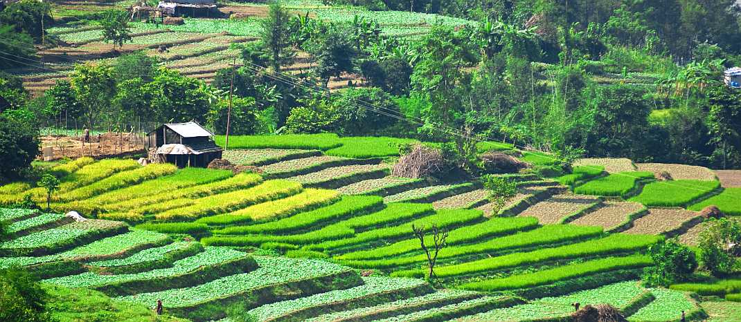
<path fill-rule="evenodd" d="M 100 142 L 97 135 L 90 135 L 90 142 L 82 144 L 82 137 L 41 137 L 41 148 L 53 148 L 53 157 L 48 160 L 59 160 L 63 157 L 113 157 L 122 154 L 144 153 L 144 145 L 141 137 L 137 139 L 136 134 L 132 137 L 124 133 L 119 136 L 118 133 L 101 134 Z M 43 155 L 39 156 L 43 160 Z"/>

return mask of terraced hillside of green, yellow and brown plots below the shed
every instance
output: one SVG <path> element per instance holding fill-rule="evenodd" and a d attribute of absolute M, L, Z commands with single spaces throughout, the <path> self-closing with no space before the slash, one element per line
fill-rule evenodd
<path fill-rule="evenodd" d="M 282 144 L 259 137 L 235 139 L 232 142 L 240 148 L 256 149 L 230 149 L 225 157 L 259 165 L 262 175 L 140 167 L 124 160 L 81 159 L 52 168 L 62 174 L 62 188 L 52 208 L 99 219 L 70 223 L 61 215 L 5 210 L 16 240 L 2 247 L 4 265 L 27 265 L 46 278 L 44 282 L 88 287 L 123 301 L 151 306 L 163 298 L 167 312 L 196 321 L 224 318 L 223 307 L 237 299 L 250 314 L 270 321 L 269 317 L 322 321 L 357 316 L 368 321 L 392 317 L 394 321 L 442 321 L 467 320 L 466 315 L 496 319 L 502 314 L 534 318 L 534 314 L 568 314 L 570 306 L 556 309 L 554 305 L 573 303 L 574 298 L 585 298 L 584 303 L 594 298 L 610 301 L 625 308 L 626 315 L 667 317 L 672 313 L 661 311 L 660 301 L 685 301 L 691 317 L 702 318 L 704 311 L 691 298 L 635 288 L 634 280 L 642 267 L 652 264 L 650 257 L 641 254 L 662 236 L 679 236 L 680 241 L 694 244 L 703 218 L 682 208 L 702 208 L 706 200 L 725 199 L 735 192 L 734 188 L 718 191 L 717 181 L 651 182 L 653 174 L 637 171 L 665 168 L 677 178 L 714 178 L 707 169 L 582 160 L 574 174 L 565 177 L 510 175 L 520 180 L 519 194 L 499 213 L 491 213 L 488 192 L 476 182 L 433 184 L 391 176 L 382 159 L 398 151 L 379 151 L 367 143 L 370 139 L 353 143 L 346 138 L 341 144 L 325 140 L 321 145 L 301 140 L 302 146 L 296 146 L 296 140 Z M 260 146 L 249 146 L 250 142 Z M 359 142 L 366 144 L 343 148 Z M 376 145 L 382 142 L 379 139 Z M 317 149 L 296 149 L 312 147 Z M 369 153 L 375 154 L 373 158 L 350 157 Z M 625 172 L 600 173 L 593 165 L 633 167 L 631 174 L 639 175 L 628 178 L 638 179 L 617 183 L 625 181 Z M 700 187 L 705 190 L 697 191 Z M 25 193 L 42 197 L 39 188 L 21 183 L 2 186 L 0 191 L 6 204 Z M 655 204 L 657 198 L 662 204 Z M 674 208 L 665 208 L 666 202 Z M 738 210 L 735 203 L 717 205 L 729 214 Z M 422 281 L 400 280 L 426 274 L 426 258 L 419 241 L 413 239 L 412 224 L 435 224 L 449 231 L 434 287 L 488 295 L 431 293 L 433 288 Z M 41 236 L 55 237 L 50 241 Z M 288 258 L 249 256 L 243 251 Z M 319 259 L 290 259 L 304 257 Z M 267 268 L 263 265 L 270 270 L 262 273 Z M 302 265 L 308 266 L 302 269 Z M 366 271 L 384 277 L 360 278 L 358 274 L 365 276 Z M 305 275 L 309 272 L 318 275 Z M 296 281 L 265 280 L 273 274 L 288 274 Z M 253 275 L 268 284 L 254 284 Z M 153 284 L 152 278 L 167 283 Z M 322 282 L 309 282 L 316 278 Z M 332 282 L 336 278 L 342 282 Z M 297 289 L 282 298 L 273 291 L 273 283 Z M 214 289 L 220 284 L 240 287 Z M 609 297 L 614 293 L 611 288 L 625 290 L 620 293 L 623 297 Z M 241 300 L 256 290 L 270 300 Z M 529 303 L 501 297 L 511 294 Z M 169 304 L 173 302 L 167 298 L 177 304 Z M 215 307 L 222 313 L 214 312 Z M 423 308 L 424 312 L 416 312 Z"/>

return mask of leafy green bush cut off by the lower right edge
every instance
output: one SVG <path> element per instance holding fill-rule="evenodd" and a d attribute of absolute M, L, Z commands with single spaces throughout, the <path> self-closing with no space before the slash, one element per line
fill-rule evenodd
<path fill-rule="evenodd" d="M 741 254 L 741 224 L 718 219 L 707 224 L 700 233 L 700 262 L 713 275 L 722 276 L 739 269 Z"/>

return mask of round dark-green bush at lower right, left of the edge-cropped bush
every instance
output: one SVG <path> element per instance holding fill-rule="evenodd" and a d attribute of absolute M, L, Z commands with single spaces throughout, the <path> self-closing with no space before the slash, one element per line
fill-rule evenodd
<path fill-rule="evenodd" d="M 651 245 L 648 250 L 655 264 L 643 270 L 641 280 L 648 287 L 686 281 L 697 269 L 695 253 L 674 240 Z"/>

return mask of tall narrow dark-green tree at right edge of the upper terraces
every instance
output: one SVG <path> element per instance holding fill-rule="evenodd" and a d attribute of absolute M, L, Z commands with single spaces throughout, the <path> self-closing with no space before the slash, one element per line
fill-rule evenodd
<path fill-rule="evenodd" d="M 289 20 L 288 10 L 278 1 L 273 1 L 268 9 L 268 17 L 261 21 L 262 43 L 270 52 L 270 64 L 276 72 L 294 55 L 290 44 Z"/>

